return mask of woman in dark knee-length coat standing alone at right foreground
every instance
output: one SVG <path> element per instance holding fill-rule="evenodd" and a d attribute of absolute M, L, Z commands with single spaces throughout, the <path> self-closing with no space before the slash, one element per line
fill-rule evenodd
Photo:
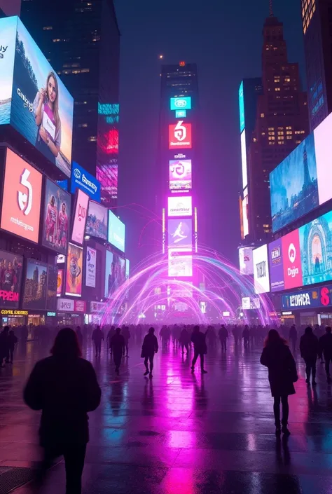
<path fill-rule="evenodd" d="M 261 364 L 268 367 L 268 380 L 271 394 L 275 399 L 273 412 L 275 414 L 276 434 L 280 434 L 280 401 L 282 402 L 282 432 L 289 435 L 287 428 L 289 416 L 289 394 L 295 394 L 293 383 L 298 380 L 295 360 L 291 350 L 276 329 L 270 329 L 264 342 Z"/>

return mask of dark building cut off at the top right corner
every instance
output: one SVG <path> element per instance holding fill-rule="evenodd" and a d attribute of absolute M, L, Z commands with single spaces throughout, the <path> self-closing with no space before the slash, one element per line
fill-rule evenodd
<path fill-rule="evenodd" d="M 310 130 L 332 111 L 332 0 L 301 0 Z"/>

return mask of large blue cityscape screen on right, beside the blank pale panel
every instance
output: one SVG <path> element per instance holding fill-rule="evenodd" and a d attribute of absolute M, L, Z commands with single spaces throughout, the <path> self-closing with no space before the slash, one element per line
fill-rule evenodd
<path fill-rule="evenodd" d="M 270 197 L 274 232 L 319 205 L 313 134 L 270 173 Z"/>

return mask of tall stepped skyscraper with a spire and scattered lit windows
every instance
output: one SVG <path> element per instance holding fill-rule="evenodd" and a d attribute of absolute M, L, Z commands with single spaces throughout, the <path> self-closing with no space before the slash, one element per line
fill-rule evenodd
<path fill-rule="evenodd" d="M 249 139 L 247 169 L 247 240 L 261 242 L 271 233 L 269 174 L 309 132 L 307 95 L 301 90 L 297 63 L 288 61 L 282 22 L 273 15 L 263 27 L 262 94 Z"/>

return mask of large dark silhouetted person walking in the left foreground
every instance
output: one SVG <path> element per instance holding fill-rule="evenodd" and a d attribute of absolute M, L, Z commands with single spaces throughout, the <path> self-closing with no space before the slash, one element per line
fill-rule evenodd
<path fill-rule="evenodd" d="M 39 482 L 53 460 L 64 455 L 67 494 L 81 494 L 81 477 L 89 441 L 88 412 L 97 409 L 101 390 L 90 362 L 81 358 L 73 329 L 61 329 L 51 357 L 36 363 L 24 390 L 32 410 L 41 410 L 39 436 L 44 459 Z"/>

